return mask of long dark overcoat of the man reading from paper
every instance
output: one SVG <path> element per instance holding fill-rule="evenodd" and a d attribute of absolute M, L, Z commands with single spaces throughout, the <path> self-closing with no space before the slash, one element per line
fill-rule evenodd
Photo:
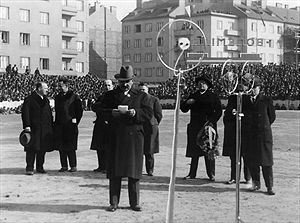
<path fill-rule="evenodd" d="M 120 114 L 111 115 L 112 109 L 118 105 L 128 105 L 136 114 L 129 117 Z M 107 150 L 107 178 L 132 177 L 140 179 L 143 169 L 144 128 L 143 124 L 149 121 L 153 110 L 146 93 L 131 89 L 124 95 L 120 88 L 105 93 L 103 99 L 103 112 L 110 114 L 109 128 L 112 134 L 112 144 Z"/>

